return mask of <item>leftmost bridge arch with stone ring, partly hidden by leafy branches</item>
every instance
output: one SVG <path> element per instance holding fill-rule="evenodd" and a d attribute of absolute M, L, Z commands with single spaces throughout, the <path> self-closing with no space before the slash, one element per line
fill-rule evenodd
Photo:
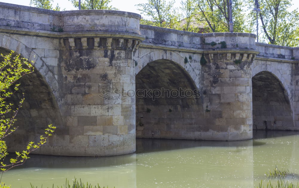
<path fill-rule="evenodd" d="M 34 71 L 18 80 L 19 90 L 7 100 L 14 104 L 13 107 L 17 107 L 22 93 L 25 93 L 25 101 L 16 116 L 15 126 L 19 128 L 12 136 L 7 137 L 8 150 L 16 151 L 24 149 L 29 141 L 38 142 L 39 135 L 44 134 L 44 129 L 49 124 L 57 126 L 59 131 L 63 120 L 55 96 L 58 94 L 57 80 L 48 66 L 31 48 L 12 37 L 0 34 L 0 53 L 6 55 L 11 50 L 15 51 L 14 54 L 21 54 L 20 56 L 28 58 L 28 61 L 35 62 Z M 56 135 L 50 140 L 52 145 L 56 145 Z"/>

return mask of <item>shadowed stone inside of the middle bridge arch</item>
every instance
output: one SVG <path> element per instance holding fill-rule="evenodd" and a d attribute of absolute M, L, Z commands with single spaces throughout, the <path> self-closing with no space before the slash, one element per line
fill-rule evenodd
<path fill-rule="evenodd" d="M 180 63 L 154 60 L 138 72 L 135 81 L 136 137 L 200 139 L 205 124 L 202 101 L 189 97 L 187 92 L 197 87 Z M 158 97 L 144 95 L 150 90 Z"/>

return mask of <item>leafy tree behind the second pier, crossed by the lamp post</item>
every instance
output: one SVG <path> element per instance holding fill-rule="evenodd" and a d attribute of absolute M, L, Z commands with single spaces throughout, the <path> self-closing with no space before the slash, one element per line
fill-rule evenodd
<path fill-rule="evenodd" d="M 199 14 L 201 21 L 207 23 L 206 28 L 212 32 L 229 31 L 229 0 L 199 0 Z M 232 15 L 234 32 L 244 31 L 244 13 L 242 1 L 232 0 Z"/>

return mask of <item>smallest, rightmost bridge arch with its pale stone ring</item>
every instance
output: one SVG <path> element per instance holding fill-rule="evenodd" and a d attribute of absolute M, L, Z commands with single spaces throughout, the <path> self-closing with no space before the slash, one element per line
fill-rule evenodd
<path fill-rule="evenodd" d="M 295 130 L 292 96 L 282 74 L 261 64 L 252 71 L 253 129 Z"/>

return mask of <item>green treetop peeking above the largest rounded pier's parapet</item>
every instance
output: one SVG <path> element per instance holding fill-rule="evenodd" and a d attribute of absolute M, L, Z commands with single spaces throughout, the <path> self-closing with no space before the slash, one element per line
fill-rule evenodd
<path fill-rule="evenodd" d="M 79 7 L 78 0 L 69 0 L 73 4 L 74 7 Z M 81 9 L 82 10 L 118 10 L 108 4 L 111 0 L 83 0 L 81 1 Z"/>

